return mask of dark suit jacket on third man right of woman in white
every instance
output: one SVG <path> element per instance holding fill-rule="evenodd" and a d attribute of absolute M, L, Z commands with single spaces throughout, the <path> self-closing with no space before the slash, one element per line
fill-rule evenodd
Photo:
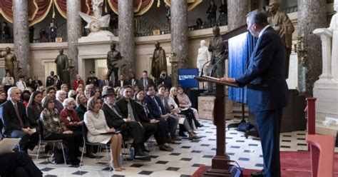
<path fill-rule="evenodd" d="M 151 116 L 153 116 L 154 118 L 158 119 L 161 115 L 167 113 L 167 111 L 165 111 L 162 101 L 160 100 L 160 98 L 158 98 L 158 96 L 155 96 L 155 100 L 157 103 L 155 103 L 153 98 L 148 95 L 145 95 L 143 100 L 145 101 L 145 103 L 147 103 L 147 108 L 149 109 Z M 158 108 L 158 106 L 160 106 L 160 109 Z"/>

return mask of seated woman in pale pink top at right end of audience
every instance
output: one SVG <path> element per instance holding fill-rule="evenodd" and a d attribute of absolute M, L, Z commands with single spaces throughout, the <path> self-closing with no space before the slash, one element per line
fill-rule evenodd
<path fill-rule="evenodd" d="M 190 102 L 190 98 L 183 92 L 183 88 L 181 86 L 177 86 L 177 90 L 178 90 L 178 105 L 180 106 L 180 108 L 182 108 L 182 110 L 186 110 L 188 108 L 193 110 L 194 113 L 194 123 L 195 123 L 195 127 L 196 128 L 200 128 L 203 127 L 203 124 L 201 124 L 200 122 L 198 122 L 198 111 L 197 109 L 191 107 L 191 102 Z"/>

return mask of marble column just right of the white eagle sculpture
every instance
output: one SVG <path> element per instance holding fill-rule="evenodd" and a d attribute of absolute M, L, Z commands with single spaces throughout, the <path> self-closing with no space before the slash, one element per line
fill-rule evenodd
<path fill-rule="evenodd" d="M 135 39 L 134 39 L 133 0 L 118 1 L 118 39 L 120 52 L 126 67 L 120 72 L 128 77 L 135 73 Z"/>

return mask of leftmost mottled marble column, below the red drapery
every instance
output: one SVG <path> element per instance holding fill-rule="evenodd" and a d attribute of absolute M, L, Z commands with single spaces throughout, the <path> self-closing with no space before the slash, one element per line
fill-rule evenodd
<path fill-rule="evenodd" d="M 14 54 L 19 60 L 19 74 L 31 76 L 29 67 L 29 17 L 28 2 L 13 0 Z"/>

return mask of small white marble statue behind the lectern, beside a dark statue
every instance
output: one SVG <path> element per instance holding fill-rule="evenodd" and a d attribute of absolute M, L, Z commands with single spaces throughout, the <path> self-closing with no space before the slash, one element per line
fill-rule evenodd
<path fill-rule="evenodd" d="M 197 66 L 198 66 L 198 72 L 200 73 L 202 71 L 203 65 L 210 61 L 211 54 L 208 51 L 208 47 L 205 45 L 205 40 L 200 41 L 200 48 L 198 49 L 198 58 L 197 58 Z M 203 73 L 207 74 L 209 64 L 206 64 L 203 69 Z"/>

